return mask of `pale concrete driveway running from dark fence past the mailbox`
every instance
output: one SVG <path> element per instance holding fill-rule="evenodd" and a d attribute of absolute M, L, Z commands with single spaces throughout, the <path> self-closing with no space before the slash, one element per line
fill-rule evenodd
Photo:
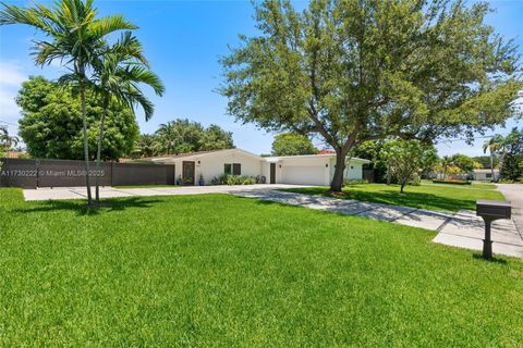
<path fill-rule="evenodd" d="M 356 200 L 335 199 L 279 191 L 281 188 L 301 187 L 299 185 L 248 185 L 248 186 L 191 186 L 191 187 L 144 187 L 114 188 L 102 187 L 102 198 L 147 197 L 203 194 L 229 194 L 240 197 L 273 201 L 282 204 L 299 206 L 345 215 L 387 221 L 402 225 L 437 231 L 434 241 L 453 247 L 482 250 L 484 224 L 474 211 L 462 210 L 458 213 L 437 212 L 411 207 L 388 206 Z M 303 186 L 302 186 L 303 187 Z M 520 188 L 520 187 L 519 187 Z M 514 185 L 501 188 L 508 200 L 514 204 L 514 220 L 521 222 L 521 199 L 523 194 Z M 518 196 L 521 195 L 521 196 Z M 25 189 L 26 200 L 85 199 L 84 187 Z M 518 220 L 520 219 L 520 220 Z M 501 220 L 492 223 L 492 250 L 495 253 L 523 258 L 523 239 L 513 221 Z"/>

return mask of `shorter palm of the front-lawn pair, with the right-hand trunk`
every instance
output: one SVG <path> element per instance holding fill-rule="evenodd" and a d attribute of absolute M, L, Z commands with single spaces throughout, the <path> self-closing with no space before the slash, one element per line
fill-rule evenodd
<path fill-rule="evenodd" d="M 154 113 L 153 103 L 139 89 L 139 84 L 148 85 L 156 95 L 163 95 L 165 87 L 160 78 L 147 69 L 147 61 L 143 55 L 143 48 L 136 37 L 130 32 L 100 57 L 94 64 L 96 90 L 102 96 L 102 113 L 98 134 L 96 154 L 96 201 L 99 202 L 99 171 L 101 163 L 101 145 L 104 140 L 104 124 L 107 109 L 111 101 L 126 104 L 133 112 L 136 104 L 145 113 L 145 121 L 149 121 Z"/>

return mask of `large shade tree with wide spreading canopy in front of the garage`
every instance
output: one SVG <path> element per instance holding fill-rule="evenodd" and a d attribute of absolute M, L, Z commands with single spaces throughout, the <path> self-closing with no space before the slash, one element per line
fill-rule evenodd
<path fill-rule="evenodd" d="M 346 156 L 390 136 L 435 141 L 502 123 L 521 88 L 518 55 L 462 1 L 313 0 L 256 8 L 258 34 L 221 59 L 228 112 L 270 130 L 319 134 Z"/>

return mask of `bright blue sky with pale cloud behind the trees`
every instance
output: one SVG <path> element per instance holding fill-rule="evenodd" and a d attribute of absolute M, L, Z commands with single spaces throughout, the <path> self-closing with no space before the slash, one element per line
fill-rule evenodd
<path fill-rule="evenodd" d="M 40 1 L 49 3 L 48 1 Z M 490 1 L 496 12 L 488 23 L 508 38 L 514 38 L 523 53 L 523 0 Z M 19 5 L 29 1 L 9 1 Z M 122 13 L 139 26 L 142 40 L 153 70 L 167 87 L 162 98 L 153 94 L 156 113 L 149 122 L 138 112 L 142 133 L 153 133 L 160 123 L 187 117 L 204 125 L 216 123 L 234 136 L 234 144 L 255 153 L 270 152 L 272 134 L 253 125 L 235 123 L 226 114 L 227 99 L 215 90 L 220 84 L 221 67 L 218 58 L 229 52 L 228 45 L 236 45 L 238 34 L 253 34 L 253 7 L 250 1 L 109 1 L 95 0 L 100 14 Z M 306 5 L 296 1 L 297 8 Z M 20 84 L 29 75 L 54 78 L 63 72 L 60 66 L 36 67 L 28 55 L 35 30 L 24 26 L 0 27 L 0 122 L 8 123 L 16 133 L 19 110 L 13 101 Z M 495 132 L 507 134 L 523 123 L 509 121 Z M 491 134 L 489 132 L 488 134 Z M 477 139 L 475 146 L 464 141 L 438 144 L 440 156 L 461 152 L 482 154 Z M 315 141 L 321 147 L 319 141 Z"/>

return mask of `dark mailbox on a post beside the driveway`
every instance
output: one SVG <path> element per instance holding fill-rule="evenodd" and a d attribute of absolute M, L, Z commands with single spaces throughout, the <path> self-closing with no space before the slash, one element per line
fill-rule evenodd
<path fill-rule="evenodd" d="M 492 239 L 490 225 L 499 219 L 510 219 L 511 206 L 504 200 L 478 200 L 476 201 L 476 215 L 482 216 L 485 222 L 485 239 L 483 239 L 483 258 L 492 259 Z"/>

